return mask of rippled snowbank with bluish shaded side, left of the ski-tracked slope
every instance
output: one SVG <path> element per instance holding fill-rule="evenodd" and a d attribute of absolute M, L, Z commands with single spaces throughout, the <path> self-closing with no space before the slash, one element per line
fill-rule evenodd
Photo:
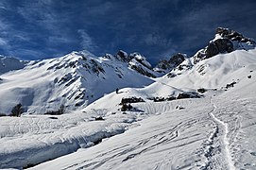
<path fill-rule="evenodd" d="M 0 167 L 26 167 L 92 146 L 101 139 L 124 132 L 134 116 L 112 115 L 95 121 L 104 110 L 71 113 L 58 117 L 2 117 Z"/>

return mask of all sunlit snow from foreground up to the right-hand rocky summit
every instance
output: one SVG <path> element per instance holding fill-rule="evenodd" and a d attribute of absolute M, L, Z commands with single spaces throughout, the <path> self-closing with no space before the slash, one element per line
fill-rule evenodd
<path fill-rule="evenodd" d="M 200 65 L 205 67 L 198 72 Z M 256 169 L 255 73 L 256 50 L 240 50 L 145 88 L 106 94 L 84 110 L 1 117 L 0 167 L 45 161 L 31 169 Z M 147 99 L 197 88 L 208 89 L 203 98 Z M 118 110 L 127 96 L 145 102 L 132 104 L 133 111 Z"/>

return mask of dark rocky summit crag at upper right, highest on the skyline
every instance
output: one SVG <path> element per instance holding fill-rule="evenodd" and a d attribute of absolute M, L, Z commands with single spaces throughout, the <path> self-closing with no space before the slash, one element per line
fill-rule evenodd
<path fill-rule="evenodd" d="M 256 42 L 244 37 L 242 34 L 229 28 L 218 27 L 215 38 L 199 50 L 194 56 L 194 63 L 202 59 L 209 59 L 220 53 L 230 53 L 236 49 L 250 49 Z"/>

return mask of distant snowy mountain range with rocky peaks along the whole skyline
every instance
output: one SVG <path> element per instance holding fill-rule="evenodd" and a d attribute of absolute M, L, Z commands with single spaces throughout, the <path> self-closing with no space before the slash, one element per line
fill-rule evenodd
<path fill-rule="evenodd" d="M 203 61 L 218 54 L 254 49 L 256 43 L 242 34 L 219 27 L 215 37 L 193 57 L 176 54 L 169 60 L 162 59 L 152 67 L 140 53 L 128 54 L 118 51 L 116 55 L 96 57 L 88 51 L 72 52 L 56 59 L 22 61 L 0 57 L 0 113 L 9 114 L 11 109 L 22 104 L 24 112 L 43 114 L 47 111 L 77 110 L 88 106 L 96 99 L 117 88 L 145 87 L 160 78 L 176 76 L 188 79 L 188 72 L 213 75 L 212 63 Z M 222 64 L 222 63 L 219 63 Z M 227 63 L 228 64 L 228 63 Z M 237 63 L 238 64 L 238 63 Z M 223 74 L 227 74 L 226 72 Z M 183 76 L 182 76 L 183 75 Z M 179 80 L 180 87 L 184 87 Z M 197 84 L 218 85 L 213 77 Z"/>

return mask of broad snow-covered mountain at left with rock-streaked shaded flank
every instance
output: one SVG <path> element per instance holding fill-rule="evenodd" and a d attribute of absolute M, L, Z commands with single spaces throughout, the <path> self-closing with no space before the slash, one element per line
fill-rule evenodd
<path fill-rule="evenodd" d="M 0 112 L 21 103 L 27 113 L 84 108 L 116 88 L 144 87 L 153 82 L 128 68 L 128 63 L 97 58 L 82 51 L 57 59 L 30 61 L 26 68 L 1 76 Z"/>

